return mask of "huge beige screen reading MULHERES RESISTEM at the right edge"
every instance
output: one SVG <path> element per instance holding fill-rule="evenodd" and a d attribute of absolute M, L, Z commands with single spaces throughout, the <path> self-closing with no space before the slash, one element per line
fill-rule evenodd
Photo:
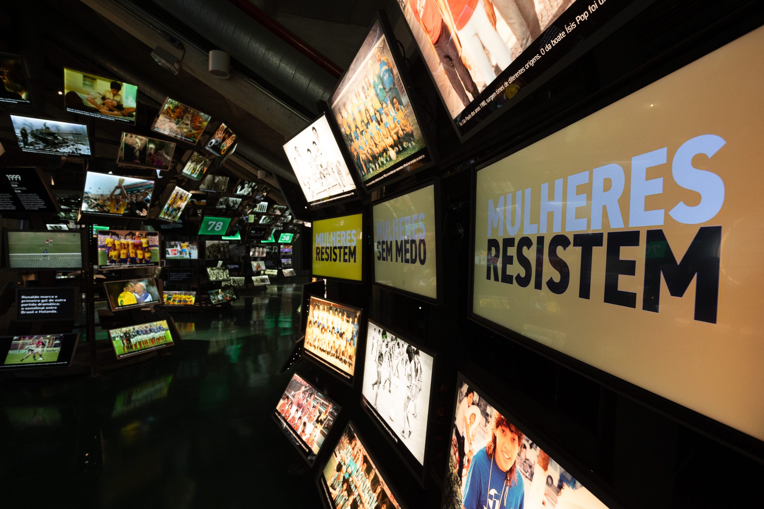
<path fill-rule="evenodd" d="M 762 45 L 758 28 L 478 169 L 474 318 L 764 440 L 764 343 L 746 332 Z"/>

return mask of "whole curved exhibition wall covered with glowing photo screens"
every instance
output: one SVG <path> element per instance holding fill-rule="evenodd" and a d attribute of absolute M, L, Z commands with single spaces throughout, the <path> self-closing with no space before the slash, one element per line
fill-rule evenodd
<path fill-rule="evenodd" d="M 265 414 L 328 509 L 743 505 L 698 479 L 764 475 L 764 9 L 392 5 L 280 142 L 294 179 L 100 74 L 65 69 L 68 122 L 9 112 L 0 375 L 172 355 L 173 314 L 293 285 Z"/>

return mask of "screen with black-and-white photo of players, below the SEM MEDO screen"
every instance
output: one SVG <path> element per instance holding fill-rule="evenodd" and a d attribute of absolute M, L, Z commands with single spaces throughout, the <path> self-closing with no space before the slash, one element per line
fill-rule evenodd
<path fill-rule="evenodd" d="M 402 337 L 368 321 L 361 404 L 420 466 L 425 462 L 432 361 Z"/>

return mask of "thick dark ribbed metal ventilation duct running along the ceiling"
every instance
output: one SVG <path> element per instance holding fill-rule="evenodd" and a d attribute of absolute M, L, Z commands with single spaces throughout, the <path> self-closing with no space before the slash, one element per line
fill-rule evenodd
<path fill-rule="evenodd" d="M 235 5 L 221 0 L 154 0 L 309 111 L 336 79 Z"/>

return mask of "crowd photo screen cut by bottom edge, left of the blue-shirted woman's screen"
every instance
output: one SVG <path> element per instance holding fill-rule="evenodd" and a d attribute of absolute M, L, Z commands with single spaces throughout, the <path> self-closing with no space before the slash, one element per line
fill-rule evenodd
<path fill-rule="evenodd" d="M 366 443 L 358 436 L 352 422 L 345 427 L 332 456 L 329 456 L 319 485 L 323 498 L 333 509 L 346 509 L 356 500 L 366 500 L 367 507 L 402 507 L 371 460 Z M 355 505 L 362 507 L 360 502 Z"/>

